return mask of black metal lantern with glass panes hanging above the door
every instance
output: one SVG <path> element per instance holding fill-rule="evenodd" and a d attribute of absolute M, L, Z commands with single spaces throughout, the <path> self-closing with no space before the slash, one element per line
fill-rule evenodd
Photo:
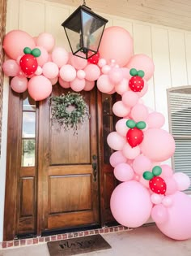
<path fill-rule="evenodd" d="M 62 23 L 72 53 L 83 59 L 96 54 L 107 22 L 108 20 L 91 11 L 83 1 L 83 5 Z"/>

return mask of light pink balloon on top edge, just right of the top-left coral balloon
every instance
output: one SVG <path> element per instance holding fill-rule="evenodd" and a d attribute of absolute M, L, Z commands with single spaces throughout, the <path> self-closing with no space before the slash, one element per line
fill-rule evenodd
<path fill-rule="evenodd" d="M 36 38 L 36 46 L 42 46 L 48 52 L 53 50 L 53 46 L 55 45 L 55 40 L 53 36 L 49 33 L 40 33 Z"/>

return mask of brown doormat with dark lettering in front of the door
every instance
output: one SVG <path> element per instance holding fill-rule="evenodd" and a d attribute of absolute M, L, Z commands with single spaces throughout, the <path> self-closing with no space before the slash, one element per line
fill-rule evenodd
<path fill-rule="evenodd" d="M 112 248 L 101 235 L 82 236 L 47 243 L 50 256 L 85 254 L 100 249 Z"/>

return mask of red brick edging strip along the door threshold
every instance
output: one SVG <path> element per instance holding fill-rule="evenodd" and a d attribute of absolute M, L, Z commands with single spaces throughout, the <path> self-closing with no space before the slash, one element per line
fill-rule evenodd
<path fill-rule="evenodd" d="M 59 240 L 65 240 L 68 238 L 73 237 L 79 237 L 79 236 L 91 236 L 96 234 L 104 234 L 109 232 L 118 232 L 118 231 L 124 231 L 124 230 L 132 230 L 132 228 L 126 228 L 123 226 L 114 226 L 111 228 L 98 228 L 93 230 L 87 230 L 87 231 L 79 231 L 79 232 L 69 232 L 69 233 L 63 233 L 59 235 L 54 236 L 38 236 L 35 238 L 28 238 L 28 239 L 15 239 L 12 241 L 2 241 L 0 242 L 0 249 L 7 249 L 10 247 L 19 247 L 19 246 L 25 246 L 25 245 L 37 245 L 40 243 L 46 243 L 48 241 L 59 241 Z"/>

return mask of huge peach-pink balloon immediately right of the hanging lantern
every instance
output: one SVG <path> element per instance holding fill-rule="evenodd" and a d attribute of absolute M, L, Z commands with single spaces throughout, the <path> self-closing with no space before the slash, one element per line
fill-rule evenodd
<path fill-rule="evenodd" d="M 123 67 L 133 55 L 133 47 L 133 39 L 125 28 L 109 27 L 104 30 L 100 43 L 100 58 L 115 59 Z"/>

